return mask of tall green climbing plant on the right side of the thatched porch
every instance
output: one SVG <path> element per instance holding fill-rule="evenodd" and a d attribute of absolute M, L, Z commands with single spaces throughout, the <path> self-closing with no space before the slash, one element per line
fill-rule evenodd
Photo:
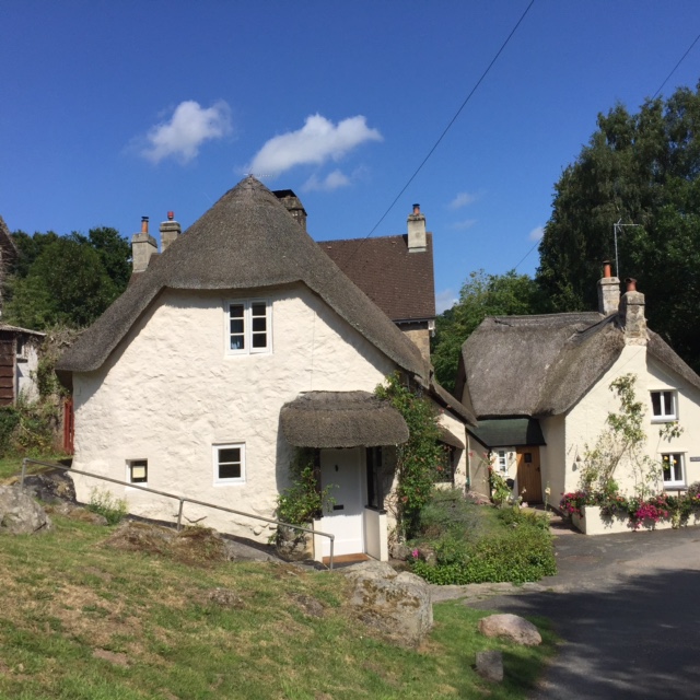
<path fill-rule="evenodd" d="M 387 377 L 386 386 L 377 386 L 375 394 L 388 400 L 408 425 L 408 442 L 397 448 L 396 517 L 399 532 L 409 539 L 418 529 L 420 511 L 430 501 L 443 460 L 435 409 L 402 384 L 398 373 Z"/>

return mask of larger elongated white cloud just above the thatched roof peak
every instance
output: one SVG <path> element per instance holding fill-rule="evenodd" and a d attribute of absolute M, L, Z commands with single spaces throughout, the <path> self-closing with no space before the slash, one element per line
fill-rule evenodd
<path fill-rule="evenodd" d="M 365 141 L 382 141 L 376 129 L 370 129 L 363 116 L 349 117 L 334 125 L 319 114 L 306 117 L 298 131 L 271 138 L 257 152 L 248 166 L 254 175 L 279 175 L 295 165 L 328 160 L 338 161 Z"/>

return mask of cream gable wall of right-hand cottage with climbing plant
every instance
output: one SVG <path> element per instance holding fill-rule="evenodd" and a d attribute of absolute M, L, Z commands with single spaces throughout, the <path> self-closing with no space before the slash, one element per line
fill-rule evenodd
<path fill-rule="evenodd" d="M 686 483 L 700 480 L 700 462 L 690 462 L 690 457 L 700 457 L 700 392 L 665 365 L 648 357 L 645 346 L 627 346 L 612 368 L 567 416 L 564 491 L 573 491 L 579 487 L 580 474 L 576 467 L 583 463 L 578 462 L 578 458 L 583 459 L 585 444 L 593 446 L 606 428 L 608 412 L 620 410 L 619 398 L 609 389 L 610 383 L 630 373 L 637 376 L 637 400 L 645 408 L 646 454 L 661 459 L 663 453 L 684 453 Z M 678 424 L 682 434 L 670 441 L 662 440 L 658 435 L 663 423 L 652 421 L 651 392 L 663 389 L 675 389 L 678 393 Z M 547 440 L 547 435 L 545 439 Z M 633 492 L 635 480 L 629 468 L 618 468 L 615 479 L 622 490 Z M 658 490 L 662 490 L 662 485 Z"/>

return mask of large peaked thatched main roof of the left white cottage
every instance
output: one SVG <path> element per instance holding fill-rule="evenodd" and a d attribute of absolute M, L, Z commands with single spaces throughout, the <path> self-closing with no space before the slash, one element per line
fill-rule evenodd
<path fill-rule="evenodd" d="M 61 358 L 62 372 L 100 368 L 164 289 L 262 290 L 302 282 L 399 368 L 428 383 L 418 348 L 323 253 L 254 177 L 228 191 L 129 284 Z"/>

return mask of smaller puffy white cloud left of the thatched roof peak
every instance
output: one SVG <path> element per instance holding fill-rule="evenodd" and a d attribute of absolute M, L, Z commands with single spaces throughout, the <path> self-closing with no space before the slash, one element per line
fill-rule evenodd
<path fill-rule="evenodd" d="M 148 145 L 141 155 L 152 163 L 174 156 L 183 163 L 195 159 L 205 141 L 231 133 L 231 109 L 221 101 L 202 107 L 194 100 L 180 102 L 168 121 L 152 127 L 145 135 Z"/>

